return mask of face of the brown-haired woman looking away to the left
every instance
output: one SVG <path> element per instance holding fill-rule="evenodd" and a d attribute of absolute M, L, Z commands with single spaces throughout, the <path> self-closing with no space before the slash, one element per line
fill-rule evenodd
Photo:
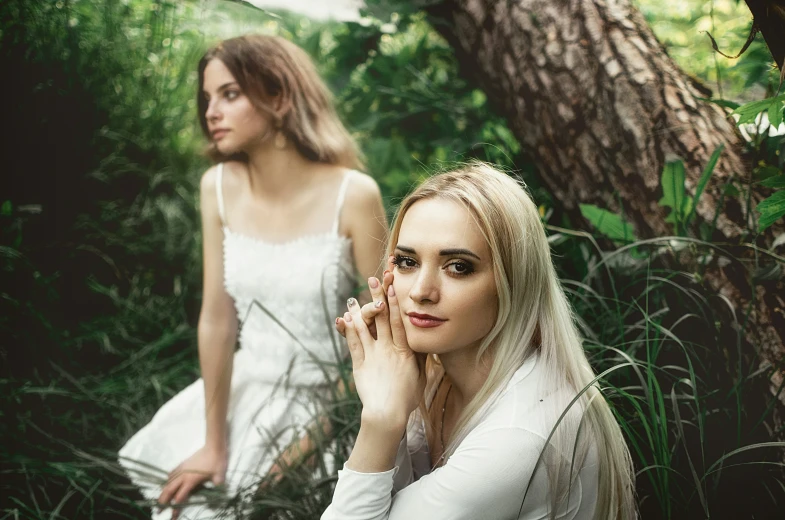
<path fill-rule="evenodd" d="M 251 103 L 224 62 L 214 58 L 204 69 L 205 119 L 210 138 L 224 155 L 261 143 L 268 119 Z"/>

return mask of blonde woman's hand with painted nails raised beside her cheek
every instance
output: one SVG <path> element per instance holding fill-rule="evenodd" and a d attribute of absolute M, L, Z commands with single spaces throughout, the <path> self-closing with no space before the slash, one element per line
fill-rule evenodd
<path fill-rule="evenodd" d="M 387 283 L 371 278 L 368 284 L 375 302 L 376 338 L 354 299 L 349 300 L 349 312 L 337 320 L 336 327 L 344 330 L 349 345 L 355 386 L 363 403 L 363 422 L 400 427 L 405 426 L 420 402 L 424 379 L 406 341 L 392 274 L 386 274 L 384 281 Z"/>

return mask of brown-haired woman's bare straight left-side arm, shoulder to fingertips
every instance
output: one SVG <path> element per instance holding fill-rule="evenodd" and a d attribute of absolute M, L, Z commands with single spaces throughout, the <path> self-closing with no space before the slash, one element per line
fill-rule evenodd
<path fill-rule="evenodd" d="M 216 198 L 216 171 L 202 176 L 200 196 L 204 287 L 199 314 L 199 365 L 204 382 L 206 438 L 202 448 L 169 475 L 158 502 L 183 503 L 191 492 L 211 481 L 222 484 L 227 467 L 227 425 L 232 361 L 237 340 L 237 315 L 224 289 L 223 229 Z M 177 518 L 177 509 L 172 512 Z"/>

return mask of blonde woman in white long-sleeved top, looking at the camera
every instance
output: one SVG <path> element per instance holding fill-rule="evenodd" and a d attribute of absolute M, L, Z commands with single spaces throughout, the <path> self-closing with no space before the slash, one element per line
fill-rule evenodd
<path fill-rule="evenodd" d="M 482 163 L 435 175 L 388 254 L 375 303 L 336 320 L 363 408 L 322 520 L 634 518 L 627 446 L 524 189 Z"/>

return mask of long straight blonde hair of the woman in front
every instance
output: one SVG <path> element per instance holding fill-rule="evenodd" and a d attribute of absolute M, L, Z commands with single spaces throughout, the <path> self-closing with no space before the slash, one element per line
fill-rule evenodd
<path fill-rule="evenodd" d="M 539 349 L 538 363 L 544 364 L 549 388 L 567 387 L 572 397 L 585 389 L 574 404 L 576 411 L 583 413 L 565 414 L 552 432 L 549 445 L 556 453 L 573 453 L 578 470 L 589 450 L 596 449 L 599 493 L 595 517 L 634 518 L 630 454 L 608 403 L 593 384 L 595 374 L 551 261 L 534 202 L 521 184 L 482 162 L 434 175 L 402 201 L 390 231 L 388 254 L 398 242 L 407 210 L 429 198 L 448 199 L 469 208 L 490 246 L 498 293 L 496 322 L 477 357 L 478 363 L 490 360 L 489 375 L 463 410 L 446 447 L 445 460 L 482 420 L 515 371 Z M 425 372 L 431 370 L 426 368 Z M 563 411 L 554 409 L 550 415 L 559 418 Z M 548 464 L 547 471 L 551 518 L 555 518 L 557 505 L 567 496 L 573 476 L 565 480 L 564 474 L 559 474 L 563 471 L 559 464 Z"/>

